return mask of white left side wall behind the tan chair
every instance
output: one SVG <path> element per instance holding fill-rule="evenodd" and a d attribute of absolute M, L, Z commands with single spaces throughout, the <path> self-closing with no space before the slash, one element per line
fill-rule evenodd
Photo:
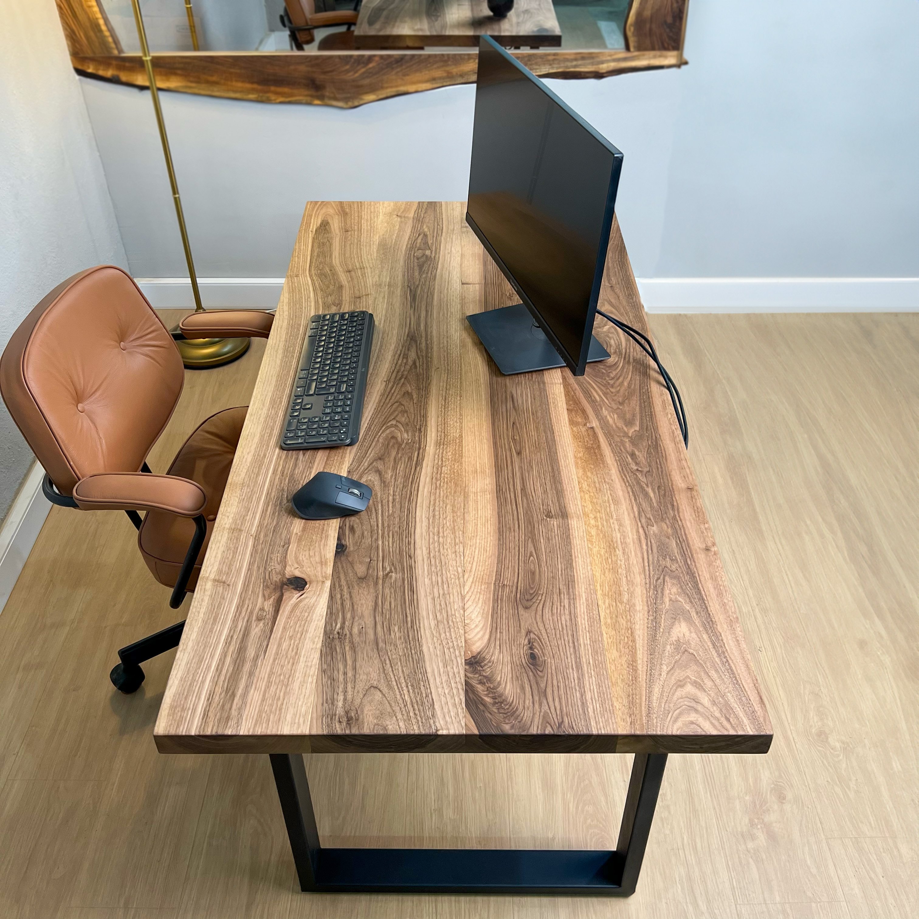
<path fill-rule="evenodd" d="M 64 278 L 126 266 L 54 0 L 0 2 L 0 348 Z M 32 462 L 0 404 L 0 517 Z"/>

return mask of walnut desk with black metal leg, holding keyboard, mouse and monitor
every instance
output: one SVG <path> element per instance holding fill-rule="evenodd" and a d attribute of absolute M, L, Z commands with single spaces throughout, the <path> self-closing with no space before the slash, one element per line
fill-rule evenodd
<path fill-rule="evenodd" d="M 629 894 L 668 753 L 772 729 L 664 386 L 612 358 L 502 377 L 514 300 L 459 203 L 311 203 L 166 688 L 163 753 L 271 754 L 310 891 Z M 614 225 L 603 308 L 644 329 Z M 278 448 L 313 312 L 376 316 L 360 441 Z M 602 322 L 602 320 L 601 320 Z M 320 470 L 373 488 L 308 522 Z M 634 753 L 618 848 L 322 848 L 306 752 Z"/>

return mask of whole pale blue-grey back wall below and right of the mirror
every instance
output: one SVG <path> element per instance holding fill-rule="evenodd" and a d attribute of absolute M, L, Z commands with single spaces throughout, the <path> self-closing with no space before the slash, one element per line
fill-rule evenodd
<path fill-rule="evenodd" d="M 641 278 L 919 278 L 917 41 L 916 0 L 698 0 L 688 67 L 551 85 L 625 153 Z M 149 96 L 83 89 L 132 272 L 186 274 Z M 473 93 L 163 94 L 199 276 L 282 277 L 308 199 L 463 199 Z"/>

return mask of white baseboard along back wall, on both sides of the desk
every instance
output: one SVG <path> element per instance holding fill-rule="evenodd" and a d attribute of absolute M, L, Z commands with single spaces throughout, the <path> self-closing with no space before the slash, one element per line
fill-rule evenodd
<path fill-rule="evenodd" d="M 195 307 L 187 278 L 137 278 L 158 310 Z M 271 310 L 284 278 L 199 278 L 209 309 Z M 648 312 L 915 312 L 919 278 L 638 278 Z"/>

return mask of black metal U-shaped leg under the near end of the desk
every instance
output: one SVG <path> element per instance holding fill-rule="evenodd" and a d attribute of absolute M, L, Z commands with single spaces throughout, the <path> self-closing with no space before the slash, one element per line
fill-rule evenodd
<path fill-rule="evenodd" d="M 613 851 L 597 849 L 339 849 L 319 845 L 300 754 L 271 754 L 303 891 L 594 894 L 635 892 L 666 754 L 637 754 Z"/>

